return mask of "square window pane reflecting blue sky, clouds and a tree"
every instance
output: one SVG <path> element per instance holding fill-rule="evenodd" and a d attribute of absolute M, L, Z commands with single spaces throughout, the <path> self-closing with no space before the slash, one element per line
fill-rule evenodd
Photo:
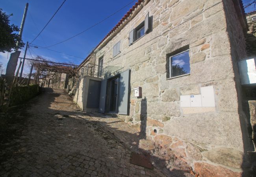
<path fill-rule="evenodd" d="M 171 77 L 181 76 L 184 74 L 190 73 L 190 64 L 189 64 L 189 51 L 179 53 L 170 57 L 170 74 Z"/>

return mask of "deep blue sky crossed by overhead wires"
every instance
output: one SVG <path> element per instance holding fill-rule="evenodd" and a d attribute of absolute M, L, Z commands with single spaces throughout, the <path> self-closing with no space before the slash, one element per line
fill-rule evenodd
<path fill-rule="evenodd" d="M 31 55 L 33 57 L 40 55 L 51 61 L 72 62 L 79 65 L 136 1 L 137 0 L 66 0 L 58 13 L 33 44 L 43 47 L 56 44 L 100 22 L 127 4 L 129 5 L 81 35 L 49 48 L 79 58 L 43 48 L 33 48 L 32 46 L 30 47 L 31 54 L 28 51 L 26 57 L 31 58 Z M 248 4 L 250 1 L 251 0 L 243 0 L 243 3 Z M 9 18 L 10 24 L 20 26 L 27 2 L 29 3 L 29 7 L 22 34 L 22 40 L 25 43 L 27 41 L 31 42 L 38 35 L 62 4 L 63 0 L 0 0 L 0 8 L 7 14 L 13 13 L 13 16 Z M 254 10 L 255 8 L 251 6 L 246 9 L 246 12 Z M 24 56 L 24 50 L 25 47 L 21 50 L 20 57 Z M 8 57 L 9 53 L 0 53 L 0 62 L 3 63 L 3 68 L 6 68 Z M 28 73 L 29 70 L 29 66 L 25 63 L 24 73 Z"/>

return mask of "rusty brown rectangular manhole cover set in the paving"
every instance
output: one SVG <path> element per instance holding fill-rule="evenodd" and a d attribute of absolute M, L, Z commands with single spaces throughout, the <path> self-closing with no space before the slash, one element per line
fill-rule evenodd
<path fill-rule="evenodd" d="M 152 163 L 150 162 L 150 154 L 143 155 L 138 153 L 132 153 L 130 163 L 145 168 L 152 169 Z"/>

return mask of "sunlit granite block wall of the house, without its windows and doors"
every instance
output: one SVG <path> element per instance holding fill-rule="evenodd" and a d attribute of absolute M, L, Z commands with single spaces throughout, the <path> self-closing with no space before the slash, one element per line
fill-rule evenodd
<path fill-rule="evenodd" d="M 215 171 L 216 176 L 241 175 L 246 163 L 234 63 L 246 54 L 238 19 L 227 16 L 236 15 L 232 1 L 146 0 L 141 6 L 96 53 L 96 64 L 103 55 L 104 67 L 131 70 L 130 114 L 120 118 L 135 126 L 140 124 L 147 140 L 160 144 L 158 151 L 175 152 L 201 175 L 207 169 Z M 152 30 L 129 46 L 129 32 L 147 12 Z M 230 20 L 238 26 L 234 31 L 238 37 L 232 40 Z M 112 57 L 113 46 L 120 40 L 121 53 Z M 234 46 L 234 42 L 240 46 Z M 169 53 L 184 46 L 189 46 L 190 74 L 168 79 Z M 234 53 L 237 48 L 238 53 Z M 200 87 L 206 86 L 214 88 L 215 107 L 180 107 L 180 96 L 200 94 Z M 142 87 L 142 98 L 134 97 L 135 87 Z M 157 155 L 156 149 L 154 152 Z"/>

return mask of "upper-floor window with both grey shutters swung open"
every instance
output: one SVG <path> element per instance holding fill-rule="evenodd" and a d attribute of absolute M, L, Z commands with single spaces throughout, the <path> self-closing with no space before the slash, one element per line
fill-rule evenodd
<path fill-rule="evenodd" d="M 145 35 L 149 30 L 149 13 L 147 13 L 145 20 L 139 24 L 136 28 L 134 28 L 129 33 L 129 46 L 132 45 L 133 42 L 137 41 L 143 35 Z"/>

